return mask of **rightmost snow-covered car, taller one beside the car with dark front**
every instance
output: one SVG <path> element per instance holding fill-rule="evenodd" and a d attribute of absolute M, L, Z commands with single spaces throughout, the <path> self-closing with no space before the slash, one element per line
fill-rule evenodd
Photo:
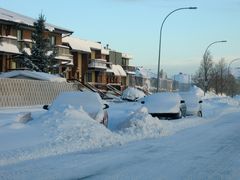
<path fill-rule="evenodd" d="M 179 92 L 187 106 L 186 115 L 197 115 L 202 117 L 203 91 L 198 87 L 192 87 L 189 91 Z"/>

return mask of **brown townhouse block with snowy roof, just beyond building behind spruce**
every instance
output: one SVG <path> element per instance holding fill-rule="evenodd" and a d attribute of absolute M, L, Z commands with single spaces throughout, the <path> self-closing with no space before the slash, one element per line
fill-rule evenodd
<path fill-rule="evenodd" d="M 73 55 L 74 79 L 101 90 L 107 90 L 111 86 L 121 91 L 126 86 L 133 85 L 134 68 L 129 66 L 129 60 L 132 59 L 130 55 L 113 51 L 100 42 L 72 36 L 64 37 L 63 45 L 68 46 Z"/>

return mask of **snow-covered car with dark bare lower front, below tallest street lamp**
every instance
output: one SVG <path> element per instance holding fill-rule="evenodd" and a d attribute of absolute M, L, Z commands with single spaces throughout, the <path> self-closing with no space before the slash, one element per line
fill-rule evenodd
<path fill-rule="evenodd" d="M 139 100 L 148 113 L 159 119 L 179 119 L 186 116 L 186 104 L 178 93 L 159 92 Z"/>

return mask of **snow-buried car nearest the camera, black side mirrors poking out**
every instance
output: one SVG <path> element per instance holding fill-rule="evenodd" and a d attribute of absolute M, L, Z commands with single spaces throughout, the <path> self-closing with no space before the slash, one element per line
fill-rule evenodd
<path fill-rule="evenodd" d="M 108 104 L 104 103 L 100 95 L 90 91 L 71 91 L 60 93 L 51 105 L 44 105 L 47 110 L 61 110 L 63 107 L 72 106 L 74 108 L 82 107 L 90 117 L 96 121 L 108 125 Z"/>

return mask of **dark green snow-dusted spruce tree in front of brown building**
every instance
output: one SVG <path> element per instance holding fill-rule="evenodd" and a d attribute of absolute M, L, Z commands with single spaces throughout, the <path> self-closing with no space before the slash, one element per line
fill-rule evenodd
<path fill-rule="evenodd" d="M 37 67 L 34 70 L 42 72 L 48 72 L 49 66 L 54 60 L 53 47 L 51 47 L 49 38 L 44 33 L 45 21 L 44 15 L 40 14 L 38 20 L 34 22 L 33 46 L 30 56 L 30 60 Z"/>

